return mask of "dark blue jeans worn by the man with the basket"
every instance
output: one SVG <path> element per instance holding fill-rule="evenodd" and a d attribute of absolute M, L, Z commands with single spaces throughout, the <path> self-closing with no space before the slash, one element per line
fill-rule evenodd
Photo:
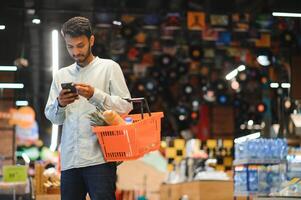
<path fill-rule="evenodd" d="M 61 200 L 115 200 L 116 163 L 64 170 L 61 173 Z"/>

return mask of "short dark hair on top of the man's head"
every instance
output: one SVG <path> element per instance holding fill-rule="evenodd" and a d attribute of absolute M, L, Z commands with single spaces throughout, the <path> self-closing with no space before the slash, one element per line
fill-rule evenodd
<path fill-rule="evenodd" d="M 63 37 L 70 35 L 71 37 L 79 37 L 82 35 L 88 38 L 93 35 L 89 19 L 85 17 L 73 17 L 66 21 L 61 29 Z"/>

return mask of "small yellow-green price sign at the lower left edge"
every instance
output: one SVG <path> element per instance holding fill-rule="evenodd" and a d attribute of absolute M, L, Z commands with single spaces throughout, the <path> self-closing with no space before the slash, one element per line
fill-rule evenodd
<path fill-rule="evenodd" d="M 7 165 L 3 166 L 4 182 L 25 182 L 27 180 L 27 166 Z"/>

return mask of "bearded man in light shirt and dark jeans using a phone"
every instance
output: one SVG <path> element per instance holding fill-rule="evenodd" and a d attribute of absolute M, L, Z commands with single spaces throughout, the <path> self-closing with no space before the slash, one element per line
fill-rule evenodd
<path fill-rule="evenodd" d="M 45 115 L 53 124 L 63 125 L 62 200 L 82 200 L 87 193 L 92 200 L 115 199 L 116 164 L 104 161 L 88 115 L 100 105 L 128 113 L 132 104 L 124 98 L 130 93 L 120 66 L 92 54 L 95 38 L 88 19 L 71 18 L 61 32 L 75 63 L 54 75 Z M 73 82 L 77 92 L 62 89 L 66 82 Z"/>

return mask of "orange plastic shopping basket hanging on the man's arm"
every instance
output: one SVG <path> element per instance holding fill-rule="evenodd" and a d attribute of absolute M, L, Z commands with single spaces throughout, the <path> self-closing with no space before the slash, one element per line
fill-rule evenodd
<path fill-rule="evenodd" d="M 141 114 L 128 115 L 132 124 L 92 128 L 107 162 L 134 160 L 160 147 L 163 112 L 150 113 L 144 98 L 126 100 L 141 103 Z M 143 101 L 148 113 L 143 113 Z"/>

